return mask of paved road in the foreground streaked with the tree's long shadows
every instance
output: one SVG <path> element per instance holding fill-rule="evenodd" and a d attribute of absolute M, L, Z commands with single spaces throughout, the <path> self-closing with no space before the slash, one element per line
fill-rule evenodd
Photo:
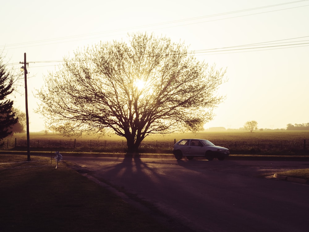
<path fill-rule="evenodd" d="M 309 185 L 260 178 L 308 168 L 306 161 L 65 159 L 194 231 L 309 230 Z"/>

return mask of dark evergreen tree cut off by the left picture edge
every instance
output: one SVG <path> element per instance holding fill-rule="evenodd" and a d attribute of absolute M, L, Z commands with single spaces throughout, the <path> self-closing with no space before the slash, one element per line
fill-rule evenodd
<path fill-rule="evenodd" d="M 0 59 L 0 141 L 12 133 L 12 125 L 18 121 L 12 110 L 13 101 L 7 98 L 14 91 L 12 85 L 13 79 Z M 0 142 L 0 146 L 3 144 Z"/>

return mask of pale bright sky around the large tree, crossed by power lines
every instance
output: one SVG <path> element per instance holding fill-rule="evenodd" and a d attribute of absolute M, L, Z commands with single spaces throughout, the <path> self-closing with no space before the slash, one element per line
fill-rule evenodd
<path fill-rule="evenodd" d="M 226 99 L 206 128 L 309 122 L 309 0 L 15 0 L 0 14 L 8 69 L 18 71 L 27 54 L 30 131 L 45 129 L 33 93 L 64 56 L 138 31 L 184 41 L 198 59 L 227 68 Z M 14 106 L 25 111 L 19 92 Z"/>

